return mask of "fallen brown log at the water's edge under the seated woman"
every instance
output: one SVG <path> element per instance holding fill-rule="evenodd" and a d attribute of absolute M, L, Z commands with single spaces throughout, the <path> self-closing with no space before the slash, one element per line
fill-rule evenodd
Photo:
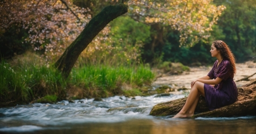
<path fill-rule="evenodd" d="M 200 97 L 195 108 L 193 117 L 230 117 L 256 115 L 256 80 L 249 84 L 238 87 L 238 100 L 228 106 L 221 107 L 210 111 L 206 106 L 203 97 Z M 184 106 L 187 98 L 171 100 L 164 103 L 156 104 L 150 115 L 167 116 L 177 114 Z"/>

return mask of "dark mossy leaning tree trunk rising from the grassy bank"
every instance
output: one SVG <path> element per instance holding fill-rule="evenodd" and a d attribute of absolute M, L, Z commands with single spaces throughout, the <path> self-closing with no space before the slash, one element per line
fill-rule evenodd
<path fill-rule="evenodd" d="M 80 33 L 80 35 L 67 47 L 61 58 L 54 64 L 61 74 L 67 78 L 75 61 L 81 52 L 88 46 L 94 37 L 112 20 L 127 13 L 128 6 L 119 4 L 107 6 L 97 14 Z"/>

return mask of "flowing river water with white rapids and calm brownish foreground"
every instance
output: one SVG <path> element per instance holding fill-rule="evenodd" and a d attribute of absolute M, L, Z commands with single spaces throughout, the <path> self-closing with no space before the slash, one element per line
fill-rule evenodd
<path fill-rule="evenodd" d="M 202 71 L 202 67 L 199 70 Z M 201 74 L 206 72 L 209 68 Z M 190 74 L 159 78 L 153 85 L 159 86 L 163 81 L 175 84 L 175 80 Z M 186 87 L 189 78 L 181 83 L 176 81 L 176 86 Z M 56 104 L 3 107 L 0 108 L 0 134 L 256 134 L 256 116 L 172 119 L 173 115 L 149 115 L 155 104 L 182 97 L 182 92 L 175 92 L 162 97 L 156 94 L 134 98 L 114 96 L 103 101 L 82 99 L 69 103 L 63 100 Z"/>

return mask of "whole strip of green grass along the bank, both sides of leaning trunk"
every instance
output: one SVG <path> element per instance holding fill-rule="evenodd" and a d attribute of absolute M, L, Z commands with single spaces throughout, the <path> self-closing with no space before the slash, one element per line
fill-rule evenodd
<path fill-rule="evenodd" d="M 155 75 L 149 67 L 87 65 L 73 68 L 67 80 L 54 67 L 34 61 L 15 64 L 0 62 L 0 104 L 7 102 L 54 102 L 66 99 L 67 90 L 79 87 L 83 97 L 140 95 L 140 87 L 149 85 Z"/>

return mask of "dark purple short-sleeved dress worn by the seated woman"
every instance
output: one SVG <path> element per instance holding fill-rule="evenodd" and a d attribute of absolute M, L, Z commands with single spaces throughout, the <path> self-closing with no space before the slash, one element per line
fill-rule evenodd
<path fill-rule="evenodd" d="M 218 67 L 217 64 L 218 60 L 215 61 L 208 76 L 210 79 L 219 77 L 222 81 L 214 87 L 204 84 L 205 101 L 210 110 L 234 103 L 238 95 L 229 60 L 222 60 Z"/>

